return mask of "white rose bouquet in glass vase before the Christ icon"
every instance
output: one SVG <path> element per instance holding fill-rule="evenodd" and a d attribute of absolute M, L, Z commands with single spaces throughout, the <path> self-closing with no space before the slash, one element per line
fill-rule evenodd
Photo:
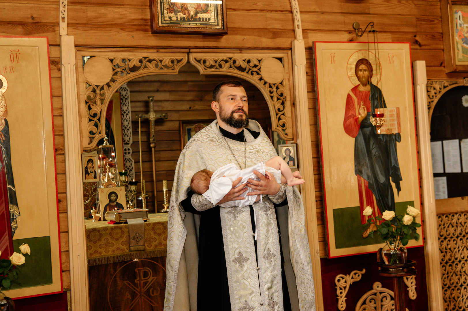
<path fill-rule="evenodd" d="M 371 229 L 369 236 L 372 238 L 374 232 L 385 242 L 382 248 L 382 259 L 388 265 L 406 263 L 406 246 L 410 239 L 419 240 L 417 228 L 421 226 L 416 222 L 419 216 L 419 210 L 408 205 L 405 215 L 395 215 L 394 211 L 386 210 L 382 216 L 374 217 L 372 208 L 367 206 L 364 216 L 372 216 L 367 219 L 365 227 Z M 384 221 L 386 220 L 386 221 Z M 380 221 L 380 224 L 377 224 Z"/>

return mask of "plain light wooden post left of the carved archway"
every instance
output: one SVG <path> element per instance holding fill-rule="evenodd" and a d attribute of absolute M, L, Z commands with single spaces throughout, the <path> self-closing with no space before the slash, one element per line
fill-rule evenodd
<path fill-rule="evenodd" d="M 88 311 L 88 266 L 83 217 L 83 176 L 81 174 L 82 149 L 75 59 L 73 36 L 60 36 L 70 293 L 72 310 Z"/>

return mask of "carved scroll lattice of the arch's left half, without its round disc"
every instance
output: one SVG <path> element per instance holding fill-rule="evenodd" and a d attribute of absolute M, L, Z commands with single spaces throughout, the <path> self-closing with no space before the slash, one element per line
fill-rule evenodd
<path fill-rule="evenodd" d="M 174 55 L 178 54 L 178 55 Z M 95 85 L 88 79 L 85 89 L 85 104 L 88 114 L 86 133 L 88 145 L 84 149 L 92 149 L 99 139 L 104 137 L 105 111 L 112 95 L 125 82 L 151 74 L 177 74 L 180 67 L 187 62 L 185 53 L 172 53 L 174 56 L 161 57 L 107 57 L 112 64 L 110 81 L 103 85 Z"/>

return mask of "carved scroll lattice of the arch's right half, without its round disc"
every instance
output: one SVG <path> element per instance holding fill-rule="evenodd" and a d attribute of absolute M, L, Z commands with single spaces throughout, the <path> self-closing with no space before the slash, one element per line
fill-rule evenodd
<path fill-rule="evenodd" d="M 206 53 L 190 53 L 190 63 L 195 65 L 200 73 L 227 73 L 254 84 L 263 93 L 270 108 L 272 130 L 278 131 L 279 135 L 285 140 L 294 140 L 285 79 L 277 83 L 270 83 L 262 75 L 263 62 L 266 59 L 271 59 L 271 56 L 219 57 L 202 54 L 206 55 Z"/>

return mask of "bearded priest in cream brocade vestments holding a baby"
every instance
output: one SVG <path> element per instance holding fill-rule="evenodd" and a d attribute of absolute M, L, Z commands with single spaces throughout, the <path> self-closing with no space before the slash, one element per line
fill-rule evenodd
<path fill-rule="evenodd" d="M 220 208 L 190 190 L 192 175 L 235 163 L 240 169 L 276 156 L 239 81 L 213 91 L 216 120 L 185 145 L 176 166 L 168 215 L 165 311 L 315 310 L 305 213 L 296 187 L 254 171 L 249 179 L 263 200 Z M 233 182 L 218 203 L 241 200 Z M 273 203 L 278 203 L 274 206 Z M 279 235 L 281 231 L 281 236 Z"/>

